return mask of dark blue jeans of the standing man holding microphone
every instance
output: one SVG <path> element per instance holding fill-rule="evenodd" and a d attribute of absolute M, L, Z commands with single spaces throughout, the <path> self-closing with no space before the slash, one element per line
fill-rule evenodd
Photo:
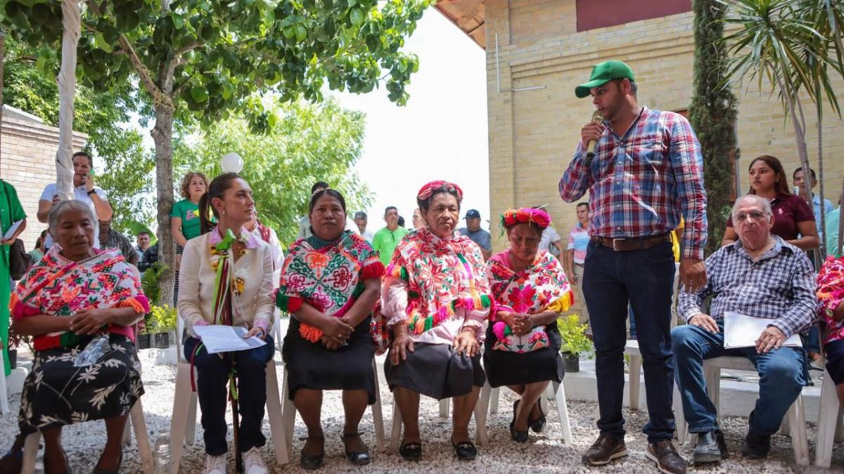
<path fill-rule="evenodd" d="M 583 271 L 583 295 L 592 321 L 598 378 L 598 429 L 623 436 L 624 351 L 627 306 L 636 314 L 636 336 L 645 372 L 647 412 L 642 428 L 648 442 L 671 439 L 674 364 L 671 358 L 671 286 L 674 252 L 670 242 L 644 250 L 615 251 L 590 242 Z"/>

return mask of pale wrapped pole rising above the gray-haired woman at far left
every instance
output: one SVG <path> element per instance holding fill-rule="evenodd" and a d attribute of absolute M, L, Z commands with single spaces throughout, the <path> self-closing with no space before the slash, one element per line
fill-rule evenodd
<path fill-rule="evenodd" d="M 58 73 L 58 150 L 56 188 L 62 199 L 73 199 L 73 94 L 76 91 L 76 48 L 82 22 L 78 0 L 62 0 L 62 68 Z"/>

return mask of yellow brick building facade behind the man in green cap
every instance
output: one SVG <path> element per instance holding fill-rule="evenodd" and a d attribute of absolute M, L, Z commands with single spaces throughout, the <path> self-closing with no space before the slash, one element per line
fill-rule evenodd
<path fill-rule="evenodd" d="M 565 238 L 576 224 L 575 204 L 560 200 L 557 183 L 594 110 L 590 100 L 576 99 L 575 86 L 587 80 L 592 64 L 620 59 L 636 73 L 641 105 L 687 109 L 693 92 L 693 13 L 578 33 L 575 0 L 488 0 L 484 8 L 492 215 L 507 207 L 548 203 Z M 844 90 L 844 83 L 838 81 L 836 89 Z M 792 124 L 784 120 L 776 96 L 763 90 L 760 94 L 751 81 L 737 89 L 738 174 L 744 191 L 750 160 L 760 154 L 782 160 L 789 184 L 800 165 Z M 817 170 L 814 105 L 808 100 L 804 111 L 809 162 Z M 829 110 L 823 141 L 825 195 L 837 202 L 844 177 L 844 126 Z M 491 233 L 497 235 L 492 221 Z M 501 250 L 506 242 L 493 239 L 493 246 Z"/>

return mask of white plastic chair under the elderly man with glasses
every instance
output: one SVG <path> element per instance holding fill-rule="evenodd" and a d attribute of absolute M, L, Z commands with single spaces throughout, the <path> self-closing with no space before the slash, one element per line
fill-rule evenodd
<path fill-rule="evenodd" d="M 749 372 L 757 372 L 754 364 L 750 362 L 749 358 L 738 356 L 722 356 L 717 358 L 707 358 L 703 361 L 703 373 L 706 374 L 706 392 L 715 405 L 716 412 L 719 411 L 719 399 L 721 391 L 721 369 L 730 370 L 747 370 Z M 677 409 L 677 396 L 675 395 L 675 410 Z M 676 412 L 677 423 L 677 437 L 679 442 L 683 444 L 687 439 L 691 442 L 692 439 L 688 434 L 688 425 L 685 423 L 685 417 L 682 416 L 682 407 L 679 412 Z M 762 416 L 765 416 L 764 414 Z M 799 395 L 791 407 L 788 408 L 785 419 L 782 421 L 780 433 L 791 434 L 792 445 L 794 448 L 794 461 L 798 466 L 809 466 L 809 439 L 806 434 L 806 413 L 803 408 L 803 395 Z M 820 433 L 820 430 L 819 430 Z M 831 453 L 831 449 L 830 449 Z"/>

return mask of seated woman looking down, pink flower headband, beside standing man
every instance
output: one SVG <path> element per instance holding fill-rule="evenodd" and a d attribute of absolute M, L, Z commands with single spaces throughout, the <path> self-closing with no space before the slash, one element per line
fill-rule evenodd
<path fill-rule="evenodd" d="M 510 436 L 520 443 L 527 441 L 528 427 L 542 431 L 539 397 L 550 381 L 562 382 L 564 374 L 556 320 L 574 297 L 560 261 L 538 250 L 549 224 L 551 218 L 542 209 L 501 214 L 510 248 L 488 263 L 495 319 L 486 331 L 484 368 L 490 385 L 506 385 L 522 396 L 513 402 L 510 423 Z"/>

